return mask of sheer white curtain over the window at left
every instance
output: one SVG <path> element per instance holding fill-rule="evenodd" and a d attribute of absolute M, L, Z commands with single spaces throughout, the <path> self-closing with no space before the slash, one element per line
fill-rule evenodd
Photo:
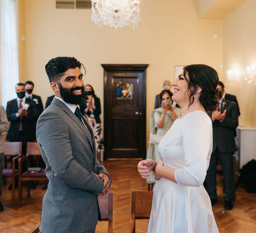
<path fill-rule="evenodd" d="M 1 105 L 16 98 L 19 82 L 17 0 L 1 1 Z"/>

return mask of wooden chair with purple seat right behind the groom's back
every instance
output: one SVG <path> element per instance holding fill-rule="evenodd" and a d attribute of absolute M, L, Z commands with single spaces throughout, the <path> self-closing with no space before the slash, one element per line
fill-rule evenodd
<path fill-rule="evenodd" d="M 22 181 L 27 181 L 27 193 L 28 198 L 30 198 L 30 185 L 28 181 L 31 180 L 48 180 L 45 175 L 45 169 L 42 169 L 40 172 L 31 173 L 29 171 L 22 172 L 22 162 L 27 161 L 27 167 L 29 167 L 29 156 L 41 156 L 41 151 L 37 142 L 28 142 L 27 143 L 27 153 L 26 156 L 22 156 L 18 159 L 18 186 L 19 186 L 19 207 L 21 207 L 22 200 Z"/>

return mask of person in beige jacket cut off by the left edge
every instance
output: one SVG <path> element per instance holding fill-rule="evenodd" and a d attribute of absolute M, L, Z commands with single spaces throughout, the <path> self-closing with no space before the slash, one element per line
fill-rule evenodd
<path fill-rule="evenodd" d="M 5 134 L 8 131 L 10 125 L 4 111 L 4 107 L 0 106 L 0 196 L 2 195 L 2 178 L 3 178 L 3 161 L 4 161 L 4 141 Z M 0 201 L 0 211 L 3 211 L 4 207 Z"/>

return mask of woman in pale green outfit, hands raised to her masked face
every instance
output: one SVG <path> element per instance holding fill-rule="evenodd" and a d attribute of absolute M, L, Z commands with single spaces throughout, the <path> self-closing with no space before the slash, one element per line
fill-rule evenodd
<path fill-rule="evenodd" d="M 160 94 L 161 107 L 155 109 L 150 116 L 150 132 L 159 136 L 164 136 L 170 129 L 176 118 L 181 116 L 180 108 L 172 107 L 173 94 L 169 90 L 163 90 Z M 158 142 L 159 143 L 159 142 Z M 159 160 L 158 143 L 150 143 L 147 151 L 147 159 Z M 147 183 L 155 183 L 155 173 L 147 178 Z"/>

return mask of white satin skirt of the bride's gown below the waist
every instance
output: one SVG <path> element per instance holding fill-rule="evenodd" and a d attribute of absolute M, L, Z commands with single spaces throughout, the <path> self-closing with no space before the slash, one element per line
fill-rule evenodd
<path fill-rule="evenodd" d="M 155 185 L 148 233 L 219 232 L 204 186 L 191 187 L 160 178 Z"/>

